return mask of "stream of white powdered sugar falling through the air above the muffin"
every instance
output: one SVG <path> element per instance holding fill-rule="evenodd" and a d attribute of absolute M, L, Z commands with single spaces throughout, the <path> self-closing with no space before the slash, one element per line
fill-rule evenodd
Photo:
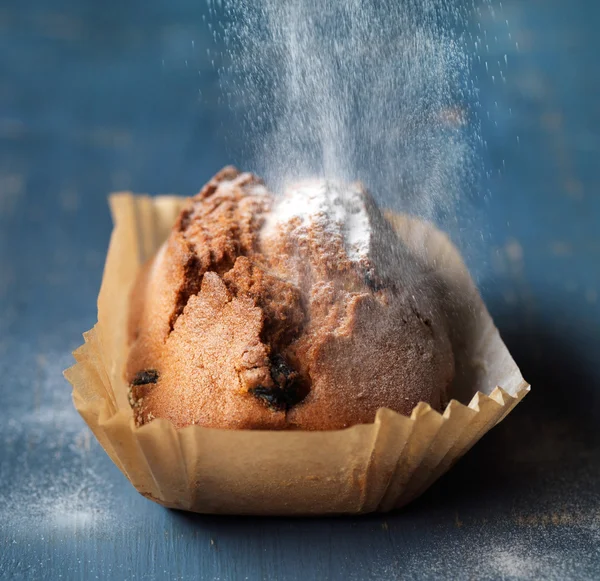
<path fill-rule="evenodd" d="M 281 191 L 306 176 L 368 184 L 444 222 L 481 170 L 471 26 L 486 2 L 225 0 L 224 90 L 244 155 Z"/>

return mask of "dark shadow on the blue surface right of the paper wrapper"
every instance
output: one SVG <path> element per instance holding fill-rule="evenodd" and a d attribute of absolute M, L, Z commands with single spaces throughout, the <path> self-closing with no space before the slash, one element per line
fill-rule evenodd
<path fill-rule="evenodd" d="M 567 498 L 584 509 L 598 506 L 598 498 L 577 493 L 594 488 L 578 487 L 582 480 L 600 487 L 600 359 L 590 353 L 597 341 L 575 322 L 553 320 L 571 308 L 569 296 L 533 312 L 487 302 L 532 391 L 407 510 L 470 500 L 506 506 L 508 498 L 515 511 L 561 510 Z"/>

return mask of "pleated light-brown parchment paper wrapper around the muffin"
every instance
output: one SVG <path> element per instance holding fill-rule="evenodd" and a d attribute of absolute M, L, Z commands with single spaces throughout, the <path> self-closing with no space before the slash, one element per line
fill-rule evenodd
<path fill-rule="evenodd" d="M 529 391 L 456 248 L 439 230 L 388 215 L 456 296 L 457 378 L 443 414 L 425 403 L 410 417 L 380 409 L 374 423 L 327 432 L 224 430 L 164 419 L 136 427 L 123 378 L 129 292 L 141 264 L 167 238 L 184 198 L 111 196 L 115 222 L 98 323 L 65 372 L 73 401 L 133 486 L 164 506 L 201 513 L 356 514 L 419 496 Z"/>

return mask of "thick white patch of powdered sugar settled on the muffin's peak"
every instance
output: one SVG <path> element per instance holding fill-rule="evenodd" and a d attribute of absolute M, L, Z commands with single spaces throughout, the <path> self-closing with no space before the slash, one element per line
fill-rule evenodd
<path fill-rule="evenodd" d="M 357 184 L 313 178 L 288 186 L 265 223 L 264 233 L 269 236 L 274 228 L 298 220 L 297 234 L 318 225 L 342 237 L 350 260 L 367 257 L 371 225 L 364 193 Z"/>

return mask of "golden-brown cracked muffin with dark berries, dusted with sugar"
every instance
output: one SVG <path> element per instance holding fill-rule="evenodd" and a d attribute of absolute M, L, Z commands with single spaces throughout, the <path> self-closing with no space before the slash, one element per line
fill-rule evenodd
<path fill-rule="evenodd" d="M 454 355 L 434 273 L 360 184 L 271 194 L 219 172 L 131 292 L 138 425 L 332 430 L 444 405 Z"/>

